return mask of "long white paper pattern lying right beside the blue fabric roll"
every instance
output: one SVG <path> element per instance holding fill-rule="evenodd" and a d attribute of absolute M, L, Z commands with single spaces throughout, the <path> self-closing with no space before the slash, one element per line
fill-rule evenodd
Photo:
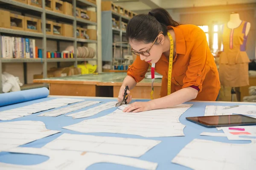
<path fill-rule="evenodd" d="M 22 116 L 28 116 L 33 113 L 47 111 L 49 109 L 58 108 L 61 106 L 84 101 L 84 99 L 57 98 L 45 102 L 39 102 L 32 105 L 27 105 L 20 108 L 0 111 L 0 120 L 12 120 Z"/>

